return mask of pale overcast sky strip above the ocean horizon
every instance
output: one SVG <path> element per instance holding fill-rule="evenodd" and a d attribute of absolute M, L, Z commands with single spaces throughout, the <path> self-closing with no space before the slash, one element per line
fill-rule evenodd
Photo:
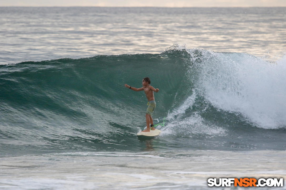
<path fill-rule="evenodd" d="M 286 7 L 286 0 L 0 0 L 0 6 Z"/>

